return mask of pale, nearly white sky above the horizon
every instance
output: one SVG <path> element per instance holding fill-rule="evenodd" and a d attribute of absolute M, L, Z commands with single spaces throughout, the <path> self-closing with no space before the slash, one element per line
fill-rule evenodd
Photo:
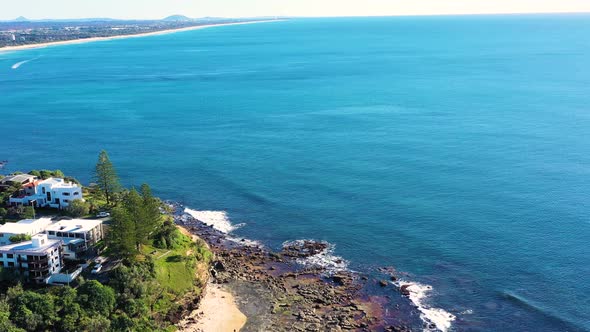
<path fill-rule="evenodd" d="M 0 19 L 590 12 L 590 0 L 0 0 Z"/>

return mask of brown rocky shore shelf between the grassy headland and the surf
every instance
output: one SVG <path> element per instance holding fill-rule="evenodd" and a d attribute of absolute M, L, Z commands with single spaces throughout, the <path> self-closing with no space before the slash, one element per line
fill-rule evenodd
<path fill-rule="evenodd" d="M 327 273 L 322 267 L 298 263 L 326 250 L 326 243 L 298 241 L 273 252 L 232 239 L 178 207 L 175 221 L 206 241 L 215 253 L 211 282 L 223 284 L 235 296 L 248 317 L 242 331 L 403 332 L 415 327 L 415 322 L 398 319 L 392 324 L 388 317 L 396 313 L 385 309 L 388 297 L 364 291 L 367 283 L 386 287 L 389 282 L 350 271 Z M 401 297 L 399 289 L 395 292 Z"/>

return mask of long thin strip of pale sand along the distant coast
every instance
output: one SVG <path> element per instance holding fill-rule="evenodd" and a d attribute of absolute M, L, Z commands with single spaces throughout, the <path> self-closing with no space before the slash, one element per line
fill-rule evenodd
<path fill-rule="evenodd" d="M 283 20 L 258 20 L 258 21 L 246 21 L 246 22 L 236 22 L 236 23 L 218 23 L 218 24 L 213 23 L 213 24 L 195 25 L 195 26 L 191 26 L 191 27 L 178 28 L 178 29 L 167 29 L 167 30 L 160 30 L 160 31 L 153 31 L 153 32 L 146 32 L 146 33 L 129 34 L 129 35 L 120 35 L 120 36 L 111 36 L 111 37 L 93 37 L 93 38 L 85 38 L 85 39 L 72 39 L 72 40 L 64 40 L 64 41 L 58 41 L 58 42 L 39 43 L 39 44 L 30 44 L 30 45 L 21 45 L 21 46 L 7 46 L 7 47 L 0 48 L 0 53 L 16 52 L 16 51 L 30 50 L 30 49 L 36 49 L 36 48 L 45 48 L 45 47 L 50 47 L 50 46 L 92 43 L 92 42 L 97 42 L 97 41 L 108 41 L 108 40 L 124 39 L 124 38 L 149 37 L 149 36 L 165 35 L 165 34 L 183 32 L 183 31 L 200 30 L 200 29 L 206 29 L 206 28 L 211 28 L 211 27 L 220 27 L 220 26 L 229 26 L 229 25 L 244 25 L 244 24 L 255 24 L 255 23 L 266 23 L 266 22 L 280 22 L 280 21 L 283 21 Z"/>

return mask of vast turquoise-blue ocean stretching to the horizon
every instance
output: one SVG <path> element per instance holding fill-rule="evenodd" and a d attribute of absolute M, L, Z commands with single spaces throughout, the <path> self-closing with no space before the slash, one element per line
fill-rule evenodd
<path fill-rule="evenodd" d="M 106 149 L 239 236 L 407 272 L 456 330 L 590 330 L 589 36 L 297 19 L 0 53 L 0 160 L 90 182 Z"/>

